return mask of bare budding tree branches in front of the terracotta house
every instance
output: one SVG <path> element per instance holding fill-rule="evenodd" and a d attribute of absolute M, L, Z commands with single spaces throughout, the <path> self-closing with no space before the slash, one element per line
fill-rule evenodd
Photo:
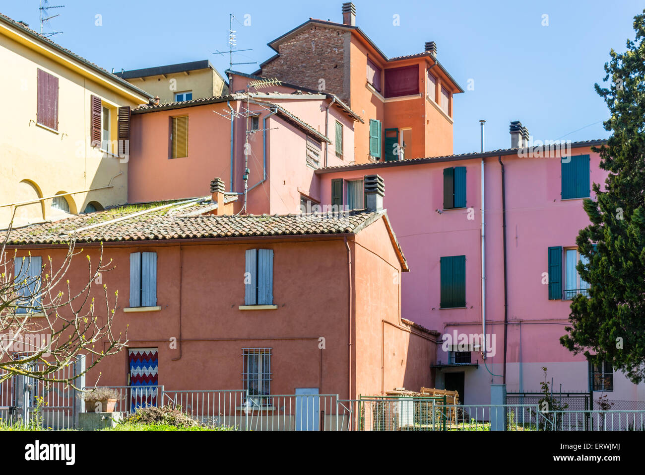
<path fill-rule="evenodd" d="M 18 257 L 17 249 L 8 249 L 11 231 L 10 225 L 0 235 L 0 383 L 13 375 L 24 375 L 75 387 L 75 377 L 86 374 L 128 343 L 127 329 L 119 335 L 112 330 L 118 291 L 112 303 L 106 285 L 100 304 L 92 297 L 92 283 L 114 269 L 112 260 L 103 263 L 101 243 L 97 266 L 92 266 L 92 259 L 86 255 L 87 277 L 70 284 L 66 275 L 72 262 L 79 265 L 82 257 L 78 256 L 83 253 L 83 249 L 76 250 L 74 235 L 67 243 L 63 262 L 55 265 L 50 256 L 46 262 L 31 252 Z M 77 355 L 93 355 L 92 363 L 74 375 L 59 371 L 73 363 Z"/>

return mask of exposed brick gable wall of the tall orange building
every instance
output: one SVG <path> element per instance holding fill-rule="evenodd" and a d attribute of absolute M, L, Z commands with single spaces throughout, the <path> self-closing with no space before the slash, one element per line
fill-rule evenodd
<path fill-rule="evenodd" d="M 349 99 L 344 67 L 349 64 L 350 33 L 312 25 L 279 45 L 280 56 L 264 65 L 262 75 Z M 347 45 L 347 46 L 346 46 Z"/>

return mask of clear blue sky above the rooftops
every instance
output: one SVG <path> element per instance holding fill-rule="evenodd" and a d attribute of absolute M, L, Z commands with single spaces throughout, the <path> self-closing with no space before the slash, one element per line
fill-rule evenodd
<path fill-rule="evenodd" d="M 607 109 L 593 90 L 609 51 L 633 39 L 642 1 L 368 1 L 355 0 L 357 25 L 388 56 L 421 52 L 437 43 L 437 58 L 464 90 L 454 101 L 454 151 L 479 151 L 479 119 L 486 119 L 486 149 L 510 146 L 508 125 L 521 120 L 539 140 L 606 138 Z M 138 69 L 210 59 L 220 72 L 228 48 L 229 8 L 237 48 L 234 60 L 261 63 L 266 46 L 309 17 L 341 23 L 341 0 L 51 0 L 61 16 L 45 31 L 52 39 L 105 69 Z M 228 6 L 231 5 L 232 6 Z M 1 1 L 0 12 L 39 30 L 39 1 Z M 54 14 L 52 13 L 52 14 Z M 95 26 L 101 14 L 102 26 Z M 401 26 L 393 26 L 393 15 Z M 542 26 L 543 15 L 548 26 Z M 244 56 L 243 56 L 244 55 Z M 257 65 L 238 66 L 253 72 Z M 591 125 L 593 124 L 593 125 Z"/>

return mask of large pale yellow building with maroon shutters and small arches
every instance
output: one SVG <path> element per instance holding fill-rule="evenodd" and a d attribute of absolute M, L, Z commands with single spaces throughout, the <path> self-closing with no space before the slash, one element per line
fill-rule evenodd
<path fill-rule="evenodd" d="M 126 202 L 128 108 L 152 96 L 1 14 L 0 65 L 0 227 Z"/>

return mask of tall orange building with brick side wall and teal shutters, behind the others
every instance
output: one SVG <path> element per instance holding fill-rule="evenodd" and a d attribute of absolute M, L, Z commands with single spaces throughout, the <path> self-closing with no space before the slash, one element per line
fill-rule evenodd
<path fill-rule="evenodd" d="M 277 54 L 255 74 L 346 101 L 364 118 L 354 131 L 357 164 L 452 154 L 453 94 L 464 91 L 437 61 L 435 43 L 388 58 L 355 18 L 344 3 L 342 23 L 309 19 L 268 43 Z"/>

